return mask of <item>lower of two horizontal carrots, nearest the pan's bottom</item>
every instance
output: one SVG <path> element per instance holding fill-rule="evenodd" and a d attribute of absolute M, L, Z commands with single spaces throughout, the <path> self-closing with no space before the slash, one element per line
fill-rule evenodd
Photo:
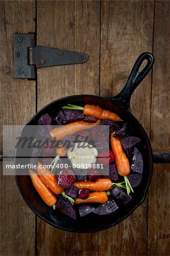
<path fill-rule="evenodd" d="M 81 203 L 101 203 L 104 204 L 108 200 L 106 192 L 92 192 L 89 193 L 89 197 L 87 199 L 80 199 L 76 198 L 74 200 L 74 204 L 81 204 Z"/>

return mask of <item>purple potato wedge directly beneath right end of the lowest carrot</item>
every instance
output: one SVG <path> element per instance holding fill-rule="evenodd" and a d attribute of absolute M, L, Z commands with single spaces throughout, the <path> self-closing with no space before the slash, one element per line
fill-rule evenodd
<path fill-rule="evenodd" d="M 99 205 L 96 209 L 93 209 L 93 213 L 98 215 L 106 215 L 110 213 L 114 213 L 118 210 L 118 205 L 115 203 L 113 199 L 109 199 L 105 204 Z"/>

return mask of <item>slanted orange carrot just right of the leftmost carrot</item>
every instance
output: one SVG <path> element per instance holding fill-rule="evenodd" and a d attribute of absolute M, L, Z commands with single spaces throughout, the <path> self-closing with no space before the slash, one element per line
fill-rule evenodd
<path fill-rule="evenodd" d="M 61 188 L 60 185 L 57 184 L 56 175 L 52 174 L 52 172 L 48 171 L 46 168 L 40 168 L 41 163 L 38 163 L 38 175 L 40 179 L 44 181 L 44 183 L 54 192 L 56 195 L 59 195 L 64 191 L 64 188 Z M 43 167 L 43 166 L 42 166 Z"/>

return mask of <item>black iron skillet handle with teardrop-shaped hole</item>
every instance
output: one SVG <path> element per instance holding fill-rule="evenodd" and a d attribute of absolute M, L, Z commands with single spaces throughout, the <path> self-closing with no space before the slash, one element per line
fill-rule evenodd
<path fill-rule="evenodd" d="M 146 66 L 139 72 L 144 60 L 147 60 Z M 150 52 L 143 52 L 136 60 L 134 67 L 128 77 L 125 87 L 123 90 L 113 98 L 107 98 L 107 100 L 113 101 L 115 104 L 121 106 L 121 108 L 130 111 L 130 98 L 136 87 L 142 82 L 144 77 L 147 76 L 154 64 L 154 56 Z"/>

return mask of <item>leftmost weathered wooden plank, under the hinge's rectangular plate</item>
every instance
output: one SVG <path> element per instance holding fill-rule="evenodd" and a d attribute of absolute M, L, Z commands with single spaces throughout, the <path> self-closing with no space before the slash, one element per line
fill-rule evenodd
<path fill-rule="evenodd" d="M 0 1 L 0 11 L 2 148 L 2 125 L 22 125 L 35 113 L 35 81 L 14 79 L 13 65 L 13 34 L 35 31 L 35 2 Z M 34 240 L 34 213 L 19 195 L 14 177 L 1 175 L 0 255 L 32 256 Z"/>

